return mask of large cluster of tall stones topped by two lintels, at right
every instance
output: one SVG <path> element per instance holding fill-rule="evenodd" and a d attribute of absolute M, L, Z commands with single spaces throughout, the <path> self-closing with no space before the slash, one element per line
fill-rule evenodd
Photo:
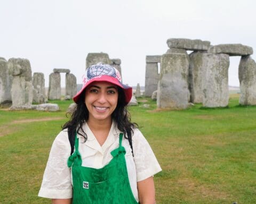
<path fill-rule="evenodd" d="M 256 105 L 256 65 L 250 57 L 251 47 L 241 44 L 211 46 L 210 41 L 176 38 L 168 39 L 167 45 L 170 49 L 161 56 L 157 89 L 154 81 L 157 79 L 156 62 L 150 61 L 151 56 L 146 57 L 145 94 L 148 96 L 157 90 L 158 108 L 184 109 L 189 102 L 203 103 L 204 107 L 227 106 L 229 56 L 241 56 L 239 104 Z M 188 55 L 187 50 L 193 52 Z M 150 87 L 154 90 L 149 91 Z"/>

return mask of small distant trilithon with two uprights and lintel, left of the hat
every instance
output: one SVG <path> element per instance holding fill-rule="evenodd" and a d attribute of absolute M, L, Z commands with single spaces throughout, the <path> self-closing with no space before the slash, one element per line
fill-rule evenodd
<path fill-rule="evenodd" d="M 53 69 L 49 75 L 49 100 L 61 99 L 60 73 L 66 73 L 66 98 L 73 98 L 77 92 L 76 77 L 68 69 Z M 67 97 L 68 96 L 68 97 Z"/>

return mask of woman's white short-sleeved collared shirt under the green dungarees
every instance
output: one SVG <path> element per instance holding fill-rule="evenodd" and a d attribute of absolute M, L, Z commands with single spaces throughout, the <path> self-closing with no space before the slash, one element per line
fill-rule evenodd
<path fill-rule="evenodd" d="M 87 140 L 78 135 L 78 150 L 82 156 L 82 166 L 102 168 L 113 158 L 110 152 L 119 146 L 119 133 L 113 122 L 106 141 L 100 146 L 98 140 L 85 123 L 83 126 Z M 122 146 L 126 150 L 125 160 L 128 177 L 134 198 L 138 201 L 137 182 L 162 171 L 153 150 L 138 129 L 132 135 L 133 154 L 129 141 L 123 138 Z M 72 198 L 72 175 L 67 160 L 70 156 L 70 143 L 67 130 L 61 131 L 55 138 L 49 159 L 45 168 L 43 182 L 38 196 L 44 198 L 67 199 Z"/>

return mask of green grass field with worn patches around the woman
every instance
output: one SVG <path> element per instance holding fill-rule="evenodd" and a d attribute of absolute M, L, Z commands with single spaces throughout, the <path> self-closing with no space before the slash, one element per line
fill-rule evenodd
<path fill-rule="evenodd" d="M 255 203 L 256 107 L 156 111 L 149 98 L 129 107 L 163 171 L 155 175 L 157 203 Z M 51 144 L 68 119 L 61 111 L 0 109 L 0 203 L 51 203 L 37 197 Z M 143 104 L 149 104 L 144 108 Z"/>

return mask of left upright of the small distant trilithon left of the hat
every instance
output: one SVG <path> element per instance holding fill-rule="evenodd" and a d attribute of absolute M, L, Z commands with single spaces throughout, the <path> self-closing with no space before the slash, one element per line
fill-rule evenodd
<path fill-rule="evenodd" d="M 60 100 L 61 98 L 61 87 L 60 87 L 60 73 L 51 73 L 49 75 L 49 100 Z"/>

